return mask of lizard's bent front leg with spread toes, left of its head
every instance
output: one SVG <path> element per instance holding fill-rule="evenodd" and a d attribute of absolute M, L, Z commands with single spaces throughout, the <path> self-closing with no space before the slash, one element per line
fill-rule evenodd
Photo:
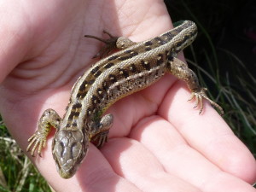
<path fill-rule="evenodd" d="M 52 127 L 59 129 L 61 118 L 55 110 L 49 108 L 44 111 L 38 121 L 38 130 L 27 141 L 29 145 L 26 151 L 31 150 L 31 155 L 35 156 L 35 150 L 38 148 L 38 155 L 41 156 L 42 148 L 45 147 L 47 136 Z"/>

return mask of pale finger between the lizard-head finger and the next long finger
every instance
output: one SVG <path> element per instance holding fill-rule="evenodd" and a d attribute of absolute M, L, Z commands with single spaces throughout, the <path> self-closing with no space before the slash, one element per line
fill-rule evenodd
<path fill-rule="evenodd" d="M 201 191 L 165 172 L 160 162 L 141 143 L 129 138 L 111 139 L 102 153 L 114 172 L 142 191 Z"/>

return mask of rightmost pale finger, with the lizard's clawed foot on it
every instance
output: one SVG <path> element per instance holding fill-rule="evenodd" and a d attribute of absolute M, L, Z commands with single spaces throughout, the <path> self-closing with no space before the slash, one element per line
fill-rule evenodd
<path fill-rule="evenodd" d="M 201 115 L 193 103 L 185 102 L 189 92 L 178 82 L 166 95 L 159 113 L 174 125 L 186 142 L 225 172 L 249 183 L 256 179 L 256 164 L 247 147 L 230 130 L 218 113 L 205 102 Z"/>

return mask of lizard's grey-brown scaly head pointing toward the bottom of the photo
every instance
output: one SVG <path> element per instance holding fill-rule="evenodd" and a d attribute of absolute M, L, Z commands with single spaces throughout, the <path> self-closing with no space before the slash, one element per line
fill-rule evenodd
<path fill-rule="evenodd" d="M 89 139 L 80 130 L 60 130 L 55 133 L 52 154 L 61 177 L 73 177 L 87 153 L 88 145 Z"/>

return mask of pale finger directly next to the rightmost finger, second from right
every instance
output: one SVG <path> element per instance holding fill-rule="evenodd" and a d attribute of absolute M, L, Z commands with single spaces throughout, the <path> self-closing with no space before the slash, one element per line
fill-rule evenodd
<path fill-rule="evenodd" d="M 189 147 L 177 130 L 164 119 L 145 119 L 134 128 L 131 137 L 143 143 L 160 161 L 166 172 L 201 191 L 253 191 L 249 184 L 223 172 L 194 148 Z"/>

